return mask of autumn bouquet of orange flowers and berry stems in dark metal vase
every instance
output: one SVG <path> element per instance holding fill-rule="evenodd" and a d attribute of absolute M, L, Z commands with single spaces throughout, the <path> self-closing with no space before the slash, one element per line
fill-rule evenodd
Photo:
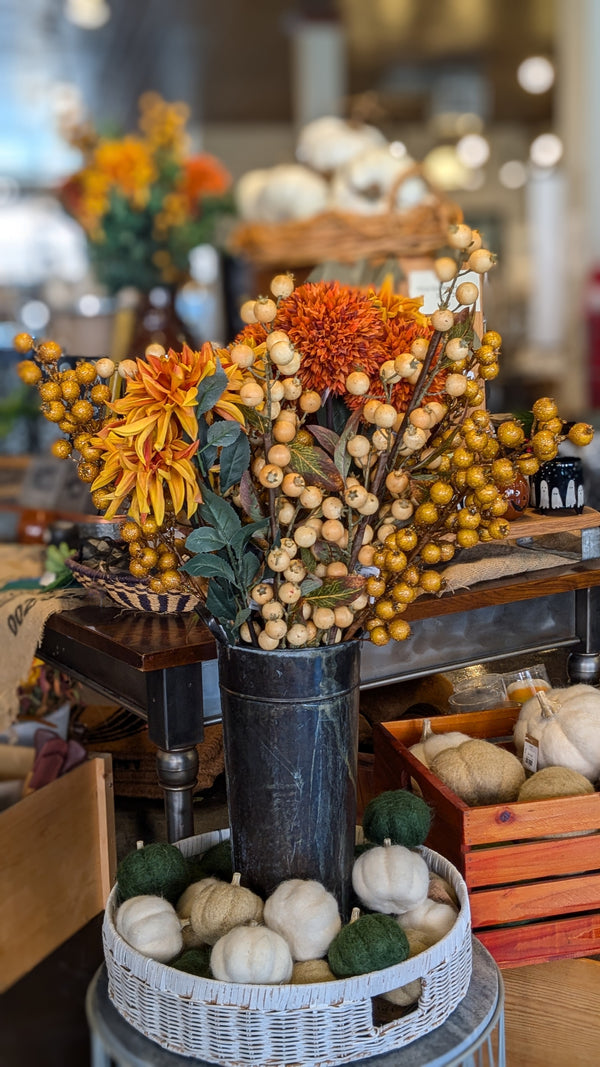
<path fill-rule="evenodd" d="M 53 341 L 21 334 L 19 372 L 65 434 L 54 455 L 75 455 L 97 508 L 124 516 L 129 571 L 149 590 L 195 595 L 233 643 L 385 644 L 410 634 L 416 596 L 443 593 L 457 551 L 508 534 L 517 476 L 566 435 L 593 436 L 567 433 L 549 397 L 527 432 L 486 410 L 501 337 L 476 335 L 470 278 L 494 259 L 461 223 L 435 261 L 431 315 L 391 282 L 295 288 L 279 274 L 226 348 L 63 368 Z"/>

